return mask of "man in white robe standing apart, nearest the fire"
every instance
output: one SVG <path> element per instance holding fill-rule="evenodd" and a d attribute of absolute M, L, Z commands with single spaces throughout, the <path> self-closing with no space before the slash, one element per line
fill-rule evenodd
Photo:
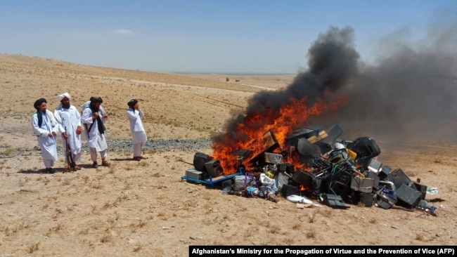
<path fill-rule="evenodd" d="M 129 110 L 127 110 L 127 117 L 130 121 L 130 131 L 134 141 L 134 160 L 141 161 L 141 159 L 146 159 L 146 157 L 141 155 L 141 152 L 144 143 L 146 143 L 146 140 L 148 140 L 146 131 L 144 131 L 143 121 L 141 121 L 141 118 L 143 118 L 144 114 L 140 109 L 138 100 L 132 99 L 129 101 L 129 103 L 127 103 L 127 105 L 129 105 Z"/>

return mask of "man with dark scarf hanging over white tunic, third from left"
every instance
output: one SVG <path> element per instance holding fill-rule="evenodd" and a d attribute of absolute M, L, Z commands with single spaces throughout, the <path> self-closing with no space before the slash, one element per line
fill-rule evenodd
<path fill-rule="evenodd" d="M 108 157 L 108 144 L 105 136 L 105 122 L 108 114 L 101 107 L 103 100 L 101 97 L 91 97 L 89 102 L 82 105 L 81 121 L 86 131 L 87 144 L 91 152 L 92 167 L 97 168 L 97 152 L 100 152 L 101 165 L 110 166 L 106 157 Z"/>

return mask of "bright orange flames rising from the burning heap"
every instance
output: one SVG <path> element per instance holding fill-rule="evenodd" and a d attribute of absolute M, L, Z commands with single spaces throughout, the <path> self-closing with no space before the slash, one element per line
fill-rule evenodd
<path fill-rule="evenodd" d="M 213 144 L 213 158 L 219 160 L 226 175 L 236 173 L 239 163 L 235 151 L 251 150 L 251 157 L 264 152 L 270 146 L 269 140 L 264 138 L 267 131 L 273 132 L 281 148 L 292 131 L 306 125 L 309 117 L 319 115 L 325 110 L 335 110 L 342 102 L 344 98 L 341 96 L 337 97 L 337 100 L 333 98 L 330 104 L 319 98 L 314 104 L 307 106 L 307 98 L 291 98 L 290 102 L 282 105 L 279 110 L 266 108 L 262 113 L 255 112 L 236 124 L 235 131 L 228 131 L 224 140 Z M 249 159 L 243 159 L 242 164 L 249 167 L 248 161 Z"/>

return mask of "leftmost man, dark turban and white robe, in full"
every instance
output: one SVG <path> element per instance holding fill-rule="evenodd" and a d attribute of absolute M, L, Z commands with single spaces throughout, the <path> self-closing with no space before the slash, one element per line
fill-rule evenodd
<path fill-rule="evenodd" d="M 57 161 L 57 140 L 58 124 L 52 112 L 47 110 L 47 101 L 39 98 L 35 101 L 33 107 L 37 110 L 32 115 L 32 129 L 37 136 L 38 144 L 41 149 L 41 158 L 43 158 L 45 171 L 54 173 L 52 169 L 54 162 Z"/>

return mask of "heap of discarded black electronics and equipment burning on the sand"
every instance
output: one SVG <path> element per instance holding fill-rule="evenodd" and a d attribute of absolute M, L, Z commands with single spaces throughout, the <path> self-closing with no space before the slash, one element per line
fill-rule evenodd
<path fill-rule="evenodd" d="M 262 197 L 273 202 L 277 195 L 318 199 L 333 208 L 348 208 L 349 204 L 379 206 L 394 205 L 406 209 L 427 209 L 427 186 L 411 181 L 401 169 L 392 171 L 378 160 L 380 147 L 368 136 L 340 140 L 340 126 L 319 131 L 299 129 L 280 145 L 272 131 L 264 133 L 264 150 L 233 152 L 236 172 L 225 172 L 221 163 L 207 154 L 194 155 L 194 167 L 184 179 L 198 171 L 198 180 L 222 183 L 224 193 L 244 197 Z M 224 176 L 224 173 L 232 173 Z M 305 198 L 306 199 L 306 198 Z"/>

